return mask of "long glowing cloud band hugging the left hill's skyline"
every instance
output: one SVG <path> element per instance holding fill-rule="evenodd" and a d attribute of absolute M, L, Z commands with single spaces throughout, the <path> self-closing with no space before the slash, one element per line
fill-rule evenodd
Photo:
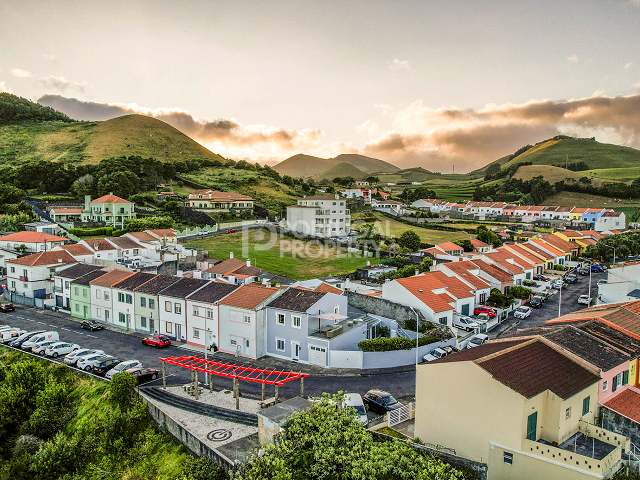
<path fill-rule="evenodd" d="M 235 120 L 198 120 L 180 109 L 147 108 L 136 104 L 99 103 L 62 95 L 44 95 L 38 103 L 55 108 L 78 120 L 108 120 L 133 113 L 157 118 L 214 151 L 243 158 L 269 158 L 271 153 L 317 146 L 319 129 L 289 130 L 269 125 L 241 125 Z M 262 152 L 252 149 L 262 147 Z"/>

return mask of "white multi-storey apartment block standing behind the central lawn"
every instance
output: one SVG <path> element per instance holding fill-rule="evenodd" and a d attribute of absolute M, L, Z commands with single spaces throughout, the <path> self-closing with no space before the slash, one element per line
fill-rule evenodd
<path fill-rule="evenodd" d="M 287 207 L 285 228 L 311 237 L 344 237 L 351 233 L 351 212 L 339 195 L 313 195 Z"/>

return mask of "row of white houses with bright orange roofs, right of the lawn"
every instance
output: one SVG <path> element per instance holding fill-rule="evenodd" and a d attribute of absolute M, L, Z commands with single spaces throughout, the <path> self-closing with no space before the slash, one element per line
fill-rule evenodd
<path fill-rule="evenodd" d="M 432 271 L 384 283 L 381 297 L 451 327 L 456 316 L 472 315 L 484 304 L 492 289 L 508 293 L 579 252 L 577 244 L 551 234 L 495 249 L 480 241 L 472 246 L 473 252 L 452 242 L 426 249 L 423 253 L 435 260 Z"/>

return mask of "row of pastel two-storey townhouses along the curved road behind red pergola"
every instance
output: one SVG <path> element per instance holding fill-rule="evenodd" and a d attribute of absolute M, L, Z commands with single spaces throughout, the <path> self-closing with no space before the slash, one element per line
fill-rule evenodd
<path fill-rule="evenodd" d="M 54 282 L 56 303 L 75 318 L 249 358 L 327 366 L 331 350 L 355 349 L 375 326 L 349 317 L 347 297 L 325 284 L 273 288 L 85 264 L 56 272 Z"/>

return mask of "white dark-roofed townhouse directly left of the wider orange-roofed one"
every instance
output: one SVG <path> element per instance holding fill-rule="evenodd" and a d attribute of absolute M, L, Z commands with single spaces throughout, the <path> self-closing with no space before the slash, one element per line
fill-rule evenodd
<path fill-rule="evenodd" d="M 218 345 L 218 303 L 237 288 L 237 285 L 213 281 L 187 297 L 187 343 L 206 348 Z"/>

